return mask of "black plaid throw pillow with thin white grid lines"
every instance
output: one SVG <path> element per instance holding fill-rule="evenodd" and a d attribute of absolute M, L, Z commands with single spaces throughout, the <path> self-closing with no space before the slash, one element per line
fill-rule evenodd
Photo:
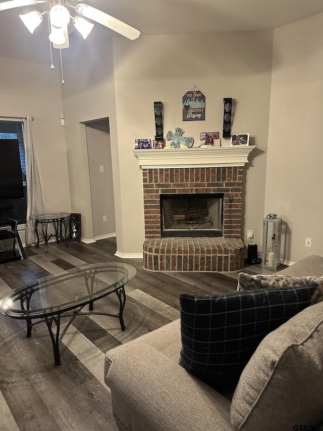
<path fill-rule="evenodd" d="M 181 294 L 180 365 L 216 389 L 237 384 L 261 340 L 309 306 L 315 289 Z"/>

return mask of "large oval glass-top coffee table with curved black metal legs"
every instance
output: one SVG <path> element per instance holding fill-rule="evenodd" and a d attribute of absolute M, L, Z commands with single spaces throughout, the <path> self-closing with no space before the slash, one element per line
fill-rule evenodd
<path fill-rule="evenodd" d="M 46 322 L 52 341 L 55 364 L 61 364 L 60 343 L 67 329 L 78 315 L 100 314 L 119 318 L 121 329 L 126 329 L 123 310 L 126 303 L 125 284 L 136 275 L 136 269 L 127 263 L 105 262 L 86 264 L 58 274 L 47 275 L 24 284 L 0 298 L 0 313 L 14 319 L 25 319 L 27 337 L 32 326 Z M 93 303 L 112 293 L 119 299 L 116 314 L 93 311 Z M 88 312 L 81 310 L 89 306 Z M 70 317 L 60 334 L 61 317 Z M 32 322 L 37 319 L 35 322 Z M 40 319 L 40 320 L 39 320 Z M 52 325 L 56 325 L 56 333 Z"/>

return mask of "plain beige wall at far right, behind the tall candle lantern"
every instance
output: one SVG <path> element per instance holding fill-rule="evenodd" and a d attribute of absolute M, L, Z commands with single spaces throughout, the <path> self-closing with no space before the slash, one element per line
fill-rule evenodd
<path fill-rule="evenodd" d="M 282 257 L 323 254 L 323 14 L 274 32 L 265 213 L 283 218 Z M 313 247 L 305 247 L 305 238 Z"/>

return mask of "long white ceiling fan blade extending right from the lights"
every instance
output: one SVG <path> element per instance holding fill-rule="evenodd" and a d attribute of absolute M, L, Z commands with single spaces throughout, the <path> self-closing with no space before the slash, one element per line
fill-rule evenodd
<path fill-rule="evenodd" d="M 92 6 L 79 3 L 76 6 L 76 11 L 78 14 L 86 18 L 96 21 L 99 24 L 102 24 L 105 27 L 111 28 L 111 30 L 122 34 L 123 36 L 128 37 L 128 39 L 134 40 L 140 35 L 140 31 L 136 28 L 131 27 L 130 25 L 112 17 L 111 15 L 106 14 L 105 12 L 92 8 Z"/>

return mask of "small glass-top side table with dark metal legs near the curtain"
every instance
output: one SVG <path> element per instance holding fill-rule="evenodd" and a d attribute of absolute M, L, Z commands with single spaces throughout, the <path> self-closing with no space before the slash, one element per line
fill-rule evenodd
<path fill-rule="evenodd" d="M 31 220 L 34 220 L 35 222 L 35 233 L 37 236 L 37 245 L 36 248 L 39 247 L 39 241 L 44 240 L 45 242 L 45 253 L 48 252 L 48 241 L 52 236 L 56 237 L 56 241 L 59 244 L 60 240 L 65 241 L 66 247 L 68 247 L 67 241 L 66 241 L 66 235 L 67 235 L 67 217 L 69 217 L 71 213 L 63 213 L 63 212 L 57 212 L 57 213 L 42 213 L 42 214 L 33 214 L 29 218 Z M 38 225 L 41 226 L 41 232 L 42 237 L 39 237 L 38 232 Z M 52 225 L 54 227 L 55 233 L 49 232 L 48 228 Z M 63 227 L 64 227 L 64 235 L 63 233 Z"/>

